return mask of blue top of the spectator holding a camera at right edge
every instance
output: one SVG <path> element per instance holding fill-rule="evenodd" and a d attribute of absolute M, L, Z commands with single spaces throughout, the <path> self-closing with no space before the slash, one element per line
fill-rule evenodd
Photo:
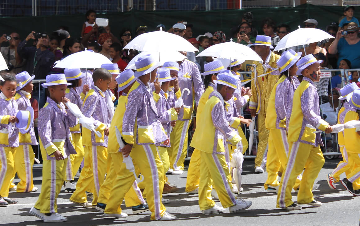
<path fill-rule="evenodd" d="M 360 41 L 349 45 L 345 38 L 341 38 L 338 42 L 337 50 L 339 53 L 338 66 L 342 59 L 348 59 L 351 62 L 351 68 L 360 68 Z"/>

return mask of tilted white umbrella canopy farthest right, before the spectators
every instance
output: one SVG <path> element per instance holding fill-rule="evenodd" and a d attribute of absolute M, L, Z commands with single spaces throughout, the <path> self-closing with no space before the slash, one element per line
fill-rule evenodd
<path fill-rule="evenodd" d="M 274 51 L 290 48 L 298 45 L 307 45 L 317 43 L 325 39 L 331 39 L 334 36 L 318 28 L 299 28 L 285 35 L 276 45 Z"/>

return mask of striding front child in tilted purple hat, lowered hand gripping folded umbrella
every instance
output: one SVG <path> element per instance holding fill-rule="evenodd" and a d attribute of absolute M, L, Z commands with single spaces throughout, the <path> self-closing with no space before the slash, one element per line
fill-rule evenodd
<path fill-rule="evenodd" d="M 137 69 L 134 76 L 137 79 L 127 94 L 122 125 L 122 139 L 125 147 L 121 149 L 121 152 L 124 157 L 131 156 L 133 162 L 136 163 L 134 164 L 136 172 L 140 169 L 144 176 L 144 183 L 147 185 L 147 202 L 151 211 L 150 220 L 175 220 L 176 217 L 166 212 L 161 202 L 164 181 L 160 178 L 163 177 L 163 165 L 155 144 L 167 145 L 170 141 L 158 120 L 152 90 L 149 86 L 149 83 L 153 83 L 156 78 L 158 66 L 159 62 L 151 55 L 144 55 L 135 61 Z M 108 201 L 104 215 L 122 218 L 127 214 L 122 213 L 119 204 L 135 181 L 132 172 L 126 169 L 126 164 L 121 165 L 117 181 L 112 189 L 112 192 L 117 191 L 117 195 Z M 111 206 L 116 208 L 109 208 Z"/>

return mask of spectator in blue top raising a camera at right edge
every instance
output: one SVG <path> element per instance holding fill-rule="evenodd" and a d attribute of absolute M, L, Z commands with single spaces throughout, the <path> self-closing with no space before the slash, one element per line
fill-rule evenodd
<path fill-rule="evenodd" d="M 336 33 L 336 38 L 329 46 L 329 53 L 338 53 L 338 65 L 342 59 L 348 59 L 353 68 L 360 68 L 360 38 L 357 37 L 359 27 L 348 26 L 346 31 L 347 37 L 343 37 L 343 30 Z"/>

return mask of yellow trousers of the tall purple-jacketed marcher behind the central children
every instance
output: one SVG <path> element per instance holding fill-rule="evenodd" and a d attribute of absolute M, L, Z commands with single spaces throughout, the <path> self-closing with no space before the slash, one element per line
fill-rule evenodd
<path fill-rule="evenodd" d="M 171 157 L 170 168 L 184 170 L 184 161 L 188 151 L 188 131 L 191 119 L 186 121 L 177 120 L 176 126 L 170 134 Z"/>

